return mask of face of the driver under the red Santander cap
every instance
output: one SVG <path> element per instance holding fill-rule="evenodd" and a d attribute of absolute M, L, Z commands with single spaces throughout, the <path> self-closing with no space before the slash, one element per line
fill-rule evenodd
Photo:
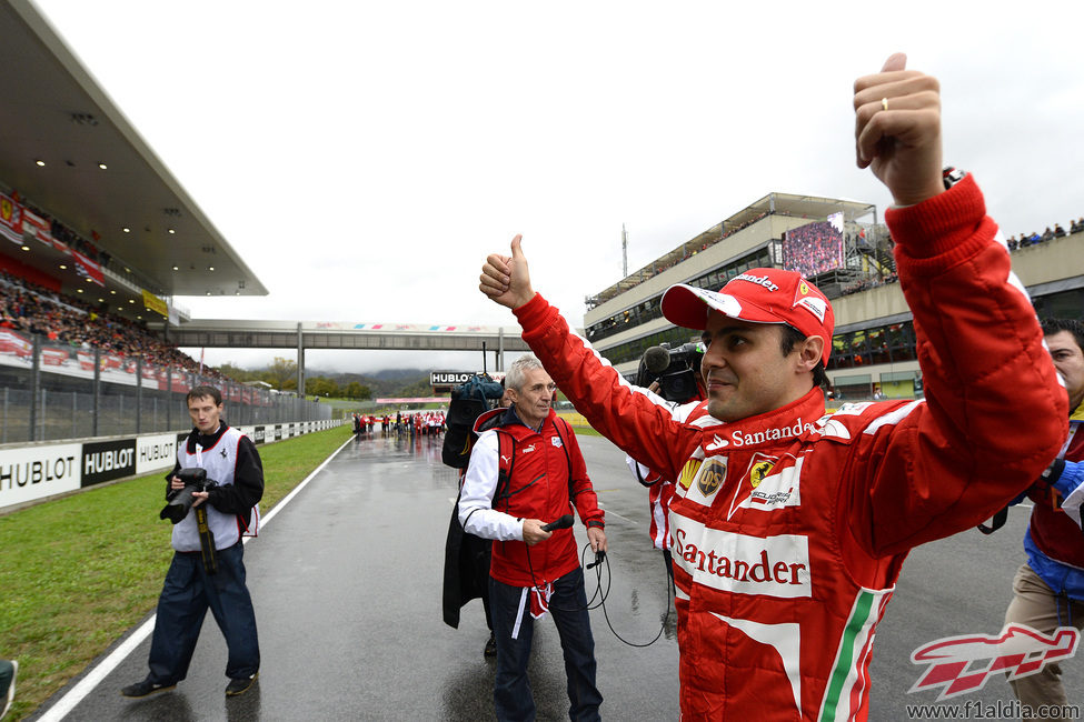
<path fill-rule="evenodd" d="M 712 313 L 707 322 L 710 342 L 700 362 L 708 413 L 732 422 L 795 400 L 798 353 L 783 355 L 782 333 L 777 323 L 748 323 Z"/>

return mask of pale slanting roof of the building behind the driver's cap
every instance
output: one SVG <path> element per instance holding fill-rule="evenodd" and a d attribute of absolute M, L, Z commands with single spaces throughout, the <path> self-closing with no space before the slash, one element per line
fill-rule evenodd
<path fill-rule="evenodd" d="M 810 221 L 824 220 L 828 214 L 843 212 L 844 219 L 852 221 L 865 215 L 875 214 L 876 205 L 848 201 L 838 198 L 821 198 L 818 195 L 795 195 L 793 193 L 768 193 L 760 200 L 750 203 L 740 211 L 734 213 L 720 223 L 683 242 L 680 245 L 660 255 L 644 268 L 629 273 L 627 277 L 601 291 L 588 303 L 604 303 L 609 299 L 627 291 L 628 289 L 643 283 L 655 275 L 656 269 L 669 268 L 684 259 L 689 249 L 700 249 L 718 243 L 727 234 L 750 225 L 757 220 L 772 214 L 779 213 L 796 218 L 808 218 Z"/>

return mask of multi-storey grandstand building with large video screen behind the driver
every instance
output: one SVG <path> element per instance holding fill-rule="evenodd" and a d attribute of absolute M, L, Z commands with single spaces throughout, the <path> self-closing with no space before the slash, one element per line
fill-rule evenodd
<path fill-rule="evenodd" d="M 839 398 L 922 395 L 914 327 L 896 282 L 892 239 L 869 203 L 770 193 L 589 297 L 587 338 L 631 378 L 649 347 L 698 335 L 662 317 L 659 299 L 667 288 L 719 289 L 757 267 L 802 270 L 832 299 L 836 328 L 828 378 Z M 1042 318 L 1084 317 L 1084 227 L 1015 250 L 1013 268 Z"/>

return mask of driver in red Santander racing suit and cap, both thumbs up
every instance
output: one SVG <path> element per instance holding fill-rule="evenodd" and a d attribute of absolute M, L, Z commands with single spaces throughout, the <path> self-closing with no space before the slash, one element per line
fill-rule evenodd
<path fill-rule="evenodd" d="M 663 297 L 668 320 L 710 334 L 708 401 L 675 418 L 535 294 L 519 237 L 483 269 L 577 411 L 678 481 L 683 719 L 865 719 L 874 628 L 908 550 L 991 517 L 1065 439 L 1065 392 L 978 187 L 943 184 L 937 83 L 904 64 L 856 81 L 856 150 L 895 202 L 925 401 L 825 415 L 832 308 L 796 273 L 755 269 Z"/>

